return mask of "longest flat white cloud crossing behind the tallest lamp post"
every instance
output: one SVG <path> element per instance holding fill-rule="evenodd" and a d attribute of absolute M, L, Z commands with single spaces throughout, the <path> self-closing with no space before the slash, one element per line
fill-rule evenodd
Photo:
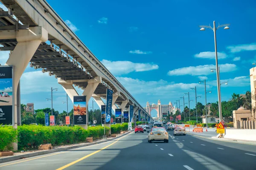
<path fill-rule="evenodd" d="M 235 71 L 237 69 L 235 64 L 220 64 L 220 72 L 230 72 Z M 210 72 L 210 68 L 216 68 L 215 65 L 198 65 L 198 66 L 189 66 L 183 68 L 177 68 L 172 71 L 168 72 L 169 76 L 180 76 L 180 75 L 192 75 L 192 76 L 199 76 L 199 75 L 209 75 L 212 74 Z"/>

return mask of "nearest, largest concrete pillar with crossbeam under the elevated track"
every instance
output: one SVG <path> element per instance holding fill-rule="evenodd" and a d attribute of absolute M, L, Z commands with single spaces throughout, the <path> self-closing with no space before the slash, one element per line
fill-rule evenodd
<path fill-rule="evenodd" d="M 20 115 L 17 115 L 17 110 L 20 107 L 20 99 L 17 99 L 18 85 L 20 82 L 20 77 L 26 69 L 26 66 L 29 64 L 32 59 L 35 51 L 41 42 L 46 42 L 48 40 L 48 32 L 42 27 L 30 27 L 29 30 L 5 30 L 1 31 L 0 40 L 6 39 L 16 39 L 17 45 L 15 46 L 12 54 L 9 56 L 5 65 L 13 66 L 13 92 L 12 96 L 14 97 L 14 128 L 17 128 L 17 125 L 20 124 L 18 118 Z M 18 97 L 20 97 L 18 95 Z M 19 102 L 19 103 L 18 103 Z M 17 143 L 13 143 L 13 150 L 17 150 Z"/>

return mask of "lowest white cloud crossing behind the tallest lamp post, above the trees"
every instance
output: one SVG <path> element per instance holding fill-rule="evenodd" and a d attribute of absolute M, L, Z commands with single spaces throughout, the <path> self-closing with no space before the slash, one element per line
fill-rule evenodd
<path fill-rule="evenodd" d="M 227 85 L 222 84 L 222 87 L 250 87 L 250 78 L 248 76 L 235 77 L 233 79 L 221 79 L 221 83 L 227 82 Z M 209 81 L 207 84 L 217 86 L 217 81 Z"/>

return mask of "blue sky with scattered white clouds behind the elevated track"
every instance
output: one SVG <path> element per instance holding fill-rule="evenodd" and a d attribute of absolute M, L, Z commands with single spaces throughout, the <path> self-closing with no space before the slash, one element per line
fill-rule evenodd
<path fill-rule="evenodd" d="M 207 90 L 212 91 L 207 94 L 207 102 L 217 101 L 216 74 L 209 69 L 215 68 L 213 31 L 199 31 L 198 27 L 212 26 L 213 20 L 217 25 L 230 24 L 229 30 L 217 30 L 221 82 L 228 82 L 221 85 L 222 100 L 250 90 L 249 69 L 256 62 L 253 0 L 47 2 L 143 106 L 158 99 L 162 104 L 174 104 L 185 92 L 194 99 L 195 91 L 190 88 L 195 85 L 198 96 L 202 95 L 198 102 L 204 104 L 200 79 L 207 79 Z M 6 56 L 8 52 L 0 53 L 1 64 Z M 66 96 L 57 79 L 29 67 L 21 78 L 21 102 L 34 102 L 36 109 L 51 107 L 45 100 L 50 97 L 51 86 L 59 88 L 53 94 L 53 107 L 66 110 L 62 104 Z M 69 103 L 71 109 L 70 99 Z M 194 105 L 190 103 L 191 108 Z M 90 100 L 89 109 L 91 106 Z M 95 104 L 94 108 L 99 107 Z"/>

